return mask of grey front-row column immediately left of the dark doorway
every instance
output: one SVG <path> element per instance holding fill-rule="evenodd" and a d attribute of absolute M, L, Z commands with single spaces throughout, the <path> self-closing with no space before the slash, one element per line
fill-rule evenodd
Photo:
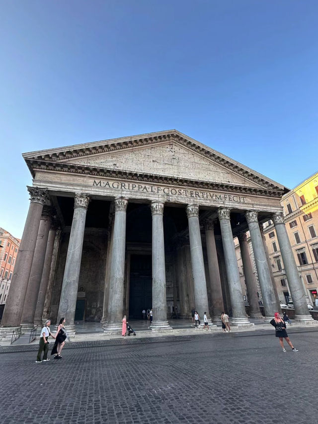
<path fill-rule="evenodd" d="M 108 317 L 104 331 L 118 334 L 122 328 L 126 248 L 126 210 L 128 200 L 115 198 L 115 220 L 112 239 Z"/>

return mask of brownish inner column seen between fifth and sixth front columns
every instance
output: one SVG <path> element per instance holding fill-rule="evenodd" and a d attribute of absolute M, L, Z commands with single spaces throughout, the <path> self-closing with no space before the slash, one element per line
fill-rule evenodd
<path fill-rule="evenodd" d="M 221 314 L 224 311 L 222 286 L 218 262 L 217 248 L 214 238 L 214 221 L 207 219 L 204 222 L 205 238 L 207 245 L 208 267 L 210 276 L 210 290 L 212 298 L 212 321 L 221 322 Z"/>

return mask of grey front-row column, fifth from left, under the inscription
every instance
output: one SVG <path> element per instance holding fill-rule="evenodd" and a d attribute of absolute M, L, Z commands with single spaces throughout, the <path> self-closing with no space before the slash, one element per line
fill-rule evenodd
<path fill-rule="evenodd" d="M 203 315 L 206 312 L 209 324 L 212 325 L 209 313 L 207 283 L 205 279 L 202 240 L 199 223 L 199 206 L 188 205 L 186 207 L 189 222 L 189 239 L 191 252 L 191 266 L 194 286 L 195 309 L 199 313 L 203 325 Z"/>

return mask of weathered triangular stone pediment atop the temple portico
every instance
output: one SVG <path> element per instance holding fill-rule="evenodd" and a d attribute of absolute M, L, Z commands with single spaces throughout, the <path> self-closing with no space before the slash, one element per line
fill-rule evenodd
<path fill-rule="evenodd" d="M 286 191 L 280 184 L 176 130 L 30 152 L 23 157 L 31 172 L 36 166 L 50 163 L 56 169 L 60 164 L 64 169 L 69 165 L 78 170 L 94 168 Z"/>

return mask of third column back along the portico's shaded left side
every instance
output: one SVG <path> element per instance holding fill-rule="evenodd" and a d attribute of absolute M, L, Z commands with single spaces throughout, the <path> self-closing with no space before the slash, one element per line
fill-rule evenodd
<path fill-rule="evenodd" d="M 36 303 L 36 309 L 35 309 L 35 315 L 34 315 L 34 325 L 42 324 L 44 302 L 45 302 L 45 296 L 46 296 L 48 282 L 49 282 L 56 231 L 57 231 L 57 226 L 55 223 L 53 223 L 53 225 L 51 225 L 51 228 L 50 228 L 48 243 L 46 246 L 43 272 L 42 272 L 38 300 Z"/>

